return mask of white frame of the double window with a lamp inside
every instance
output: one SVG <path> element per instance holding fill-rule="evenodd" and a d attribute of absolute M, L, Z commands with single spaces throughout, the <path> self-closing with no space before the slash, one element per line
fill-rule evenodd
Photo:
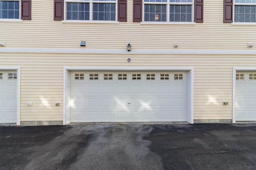
<path fill-rule="evenodd" d="M 144 21 L 144 14 L 145 14 L 145 9 L 144 5 L 145 4 L 155 4 L 155 5 L 166 5 L 166 21 Z M 191 22 L 170 22 L 170 5 L 191 5 L 192 10 L 191 10 Z M 170 0 L 167 0 L 167 2 L 144 2 L 142 0 L 142 22 L 141 24 L 173 24 L 173 25 L 195 25 L 196 23 L 194 22 L 194 0 L 192 2 L 170 2 Z"/>

